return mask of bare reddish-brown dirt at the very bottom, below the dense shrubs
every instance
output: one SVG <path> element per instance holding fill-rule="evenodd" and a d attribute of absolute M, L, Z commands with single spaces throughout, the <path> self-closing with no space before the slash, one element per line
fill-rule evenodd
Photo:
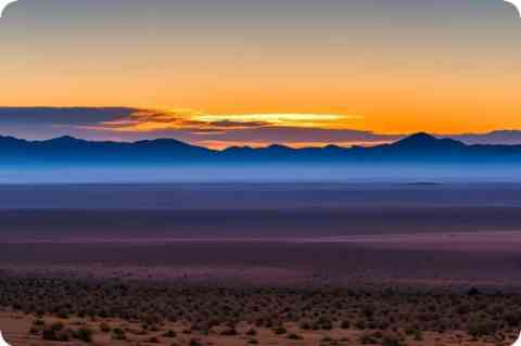
<path fill-rule="evenodd" d="M 421 335 L 421 339 L 416 336 L 407 336 L 404 333 L 403 341 L 394 343 L 387 341 L 385 344 L 385 335 L 379 335 L 374 331 L 354 331 L 333 329 L 331 331 L 303 331 L 293 324 L 287 325 L 287 332 L 277 334 L 276 331 L 256 328 L 246 323 L 240 323 L 237 328 L 237 335 L 221 335 L 224 329 L 213 329 L 208 335 L 202 335 L 190 331 L 188 323 L 173 323 L 163 324 L 154 331 L 143 330 L 143 328 L 136 322 L 126 322 L 114 319 L 58 319 L 43 318 L 46 325 L 61 322 L 64 329 L 78 330 L 80 328 L 88 328 L 92 331 L 92 341 L 89 343 L 80 341 L 68 342 L 53 342 L 45 341 L 41 335 L 35 335 L 33 329 L 38 329 L 35 325 L 36 319 L 34 316 L 24 315 L 15 311 L 0 312 L 0 325 L 4 337 L 12 346 L 26 345 L 214 345 L 214 346 L 245 346 L 245 345 L 287 345 L 287 346 L 310 346 L 310 345 L 408 345 L 408 346 L 497 346 L 511 345 L 516 335 L 505 335 L 504 341 L 497 341 L 488 337 L 480 341 L 472 339 L 465 332 L 446 332 L 432 333 L 427 332 Z M 101 325 L 106 325 L 112 331 L 102 331 Z M 114 329 L 124 331 L 125 339 L 115 339 Z M 255 335 L 249 333 L 255 330 Z M 170 335 L 167 335 L 168 331 Z M 297 338 L 297 339 L 295 339 Z M 370 342 L 372 338 L 374 342 Z M 394 338 L 391 338 L 394 339 Z"/>

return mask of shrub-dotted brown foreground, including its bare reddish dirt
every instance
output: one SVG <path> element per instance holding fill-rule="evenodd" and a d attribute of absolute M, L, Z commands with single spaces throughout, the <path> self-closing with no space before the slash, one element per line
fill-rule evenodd
<path fill-rule="evenodd" d="M 8 321 L 14 345 L 509 345 L 521 323 L 520 295 L 475 289 L 221 286 L 4 273 L 0 292 L 0 322 Z"/>

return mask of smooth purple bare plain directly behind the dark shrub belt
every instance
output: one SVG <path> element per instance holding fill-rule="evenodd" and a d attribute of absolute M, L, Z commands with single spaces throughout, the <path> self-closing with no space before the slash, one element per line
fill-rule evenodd
<path fill-rule="evenodd" d="M 521 287 L 521 232 L 0 242 L 0 270 L 99 279 Z"/>

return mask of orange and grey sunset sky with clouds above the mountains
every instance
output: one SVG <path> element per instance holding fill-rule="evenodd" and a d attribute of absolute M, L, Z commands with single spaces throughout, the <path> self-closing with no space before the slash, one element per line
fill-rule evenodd
<path fill-rule="evenodd" d="M 18 0 L 0 43 L 0 134 L 225 148 L 521 130 L 521 18 L 503 0 Z"/>

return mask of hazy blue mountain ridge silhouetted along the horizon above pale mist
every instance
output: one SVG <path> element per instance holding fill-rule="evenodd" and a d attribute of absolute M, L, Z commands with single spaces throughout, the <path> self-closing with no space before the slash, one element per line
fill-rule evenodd
<path fill-rule="evenodd" d="M 191 145 L 175 139 L 137 142 L 88 141 L 60 137 L 45 141 L 27 141 L 0 137 L 0 161 L 11 164 L 196 164 L 196 163 L 392 163 L 457 162 L 521 163 L 521 145 L 468 145 L 454 139 L 436 138 L 420 132 L 391 144 L 370 148 L 292 149 L 274 144 L 267 148 L 232 146 L 223 151 Z"/>

